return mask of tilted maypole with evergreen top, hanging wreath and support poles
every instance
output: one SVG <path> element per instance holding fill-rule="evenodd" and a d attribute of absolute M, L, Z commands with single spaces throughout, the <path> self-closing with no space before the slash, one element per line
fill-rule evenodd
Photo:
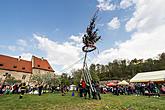
<path fill-rule="evenodd" d="M 101 38 L 101 36 L 98 36 L 98 29 L 95 29 L 97 15 L 98 15 L 99 9 L 95 12 L 94 16 L 92 17 L 90 24 L 87 26 L 86 33 L 83 36 L 83 43 L 84 46 L 82 47 L 83 52 L 85 52 L 84 56 L 84 62 L 83 62 L 83 74 L 81 76 L 81 79 L 83 79 L 86 83 L 90 86 L 90 91 L 92 93 L 96 93 L 96 89 L 93 86 L 92 77 L 88 70 L 87 66 L 87 55 L 89 52 L 92 52 L 96 49 L 96 42 Z"/>

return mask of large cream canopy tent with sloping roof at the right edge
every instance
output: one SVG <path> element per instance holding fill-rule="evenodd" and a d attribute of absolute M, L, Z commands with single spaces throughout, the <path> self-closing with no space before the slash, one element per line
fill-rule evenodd
<path fill-rule="evenodd" d="M 136 74 L 130 82 L 165 82 L 165 70 Z"/>

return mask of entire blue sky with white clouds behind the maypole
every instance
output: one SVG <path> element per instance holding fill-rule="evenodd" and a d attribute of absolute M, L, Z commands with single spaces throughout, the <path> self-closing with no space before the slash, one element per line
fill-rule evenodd
<path fill-rule="evenodd" d="M 62 70 L 83 57 L 81 37 L 99 8 L 102 39 L 89 63 L 154 58 L 165 52 L 164 4 L 165 0 L 0 0 L 0 54 L 27 60 L 36 55 L 48 59 L 56 72 L 69 71 Z M 82 62 L 73 68 L 79 67 Z"/>

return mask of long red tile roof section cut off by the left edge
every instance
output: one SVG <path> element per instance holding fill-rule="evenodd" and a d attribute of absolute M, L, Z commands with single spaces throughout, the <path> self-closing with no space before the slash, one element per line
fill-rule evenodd
<path fill-rule="evenodd" d="M 0 55 L 0 69 L 32 73 L 31 61 Z"/>

